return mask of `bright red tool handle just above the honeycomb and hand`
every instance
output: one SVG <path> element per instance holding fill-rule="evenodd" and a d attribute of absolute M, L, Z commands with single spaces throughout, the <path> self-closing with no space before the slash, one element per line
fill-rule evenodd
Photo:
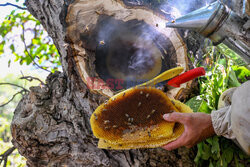
<path fill-rule="evenodd" d="M 205 69 L 203 67 L 198 67 L 171 79 L 170 81 L 168 81 L 168 85 L 173 87 L 180 87 L 180 84 L 186 83 L 192 79 L 195 79 L 199 76 L 203 76 L 205 74 Z"/>

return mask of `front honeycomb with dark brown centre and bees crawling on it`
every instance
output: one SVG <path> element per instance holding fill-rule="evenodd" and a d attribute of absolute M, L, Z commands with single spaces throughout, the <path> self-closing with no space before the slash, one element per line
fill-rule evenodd
<path fill-rule="evenodd" d="M 153 87 L 131 88 L 99 106 L 90 118 L 93 134 L 110 143 L 140 143 L 173 136 L 175 123 L 163 115 L 179 112 L 171 100 Z M 108 142 L 107 142 L 108 143 Z"/>

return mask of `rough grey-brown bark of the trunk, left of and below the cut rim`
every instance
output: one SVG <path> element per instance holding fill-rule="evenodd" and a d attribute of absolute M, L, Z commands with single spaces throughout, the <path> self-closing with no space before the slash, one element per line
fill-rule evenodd
<path fill-rule="evenodd" d="M 30 88 L 17 106 L 11 126 L 13 144 L 29 166 L 194 166 L 194 150 L 107 151 L 97 148 L 89 118 L 106 97 L 82 82 L 66 38 L 71 0 L 27 0 L 28 10 L 43 24 L 61 55 L 63 73 L 51 74 L 42 87 Z M 184 33 L 183 33 L 184 34 Z M 197 40 L 183 35 L 194 52 Z M 195 44 L 195 45 L 193 45 Z M 197 47 L 196 47 L 197 46 Z M 189 47 L 189 46 L 188 46 Z"/>

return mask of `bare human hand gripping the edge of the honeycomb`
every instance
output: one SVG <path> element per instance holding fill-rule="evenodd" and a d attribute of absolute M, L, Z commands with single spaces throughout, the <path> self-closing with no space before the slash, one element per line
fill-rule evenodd
<path fill-rule="evenodd" d="M 165 114 L 163 118 L 168 122 L 179 122 L 185 128 L 177 140 L 163 146 L 169 151 L 181 146 L 191 148 L 200 141 L 215 135 L 210 114 L 174 112 Z"/>

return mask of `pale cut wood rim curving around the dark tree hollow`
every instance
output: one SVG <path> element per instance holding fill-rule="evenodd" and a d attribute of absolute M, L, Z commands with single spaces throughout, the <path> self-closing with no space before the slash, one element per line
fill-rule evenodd
<path fill-rule="evenodd" d="M 98 78 L 99 76 L 96 72 L 94 74 L 88 72 L 89 55 L 86 52 L 88 49 L 81 46 L 80 33 L 84 33 L 86 29 L 91 31 L 94 25 L 97 24 L 98 18 L 103 15 L 112 16 L 114 19 L 124 22 L 130 20 L 144 21 L 146 24 L 154 27 L 156 31 L 168 37 L 173 44 L 177 55 L 177 66 L 182 66 L 185 70 L 188 70 L 187 48 L 185 43 L 175 29 L 165 27 L 167 20 L 159 13 L 146 7 L 126 6 L 121 0 L 77 0 L 68 8 L 66 18 L 68 24 L 67 36 L 73 43 L 71 47 L 77 50 L 78 54 L 74 55 L 74 61 L 79 70 L 80 77 L 85 84 L 88 85 L 89 78 Z M 79 26 L 83 28 L 79 29 Z M 94 54 L 94 50 L 88 51 Z M 100 84 L 99 82 L 100 80 L 98 79 L 98 81 L 93 82 L 93 84 L 98 85 Z M 115 91 L 111 89 L 94 88 L 90 89 L 90 91 L 108 97 L 115 94 Z M 176 92 L 176 90 L 174 92 Z"/>

